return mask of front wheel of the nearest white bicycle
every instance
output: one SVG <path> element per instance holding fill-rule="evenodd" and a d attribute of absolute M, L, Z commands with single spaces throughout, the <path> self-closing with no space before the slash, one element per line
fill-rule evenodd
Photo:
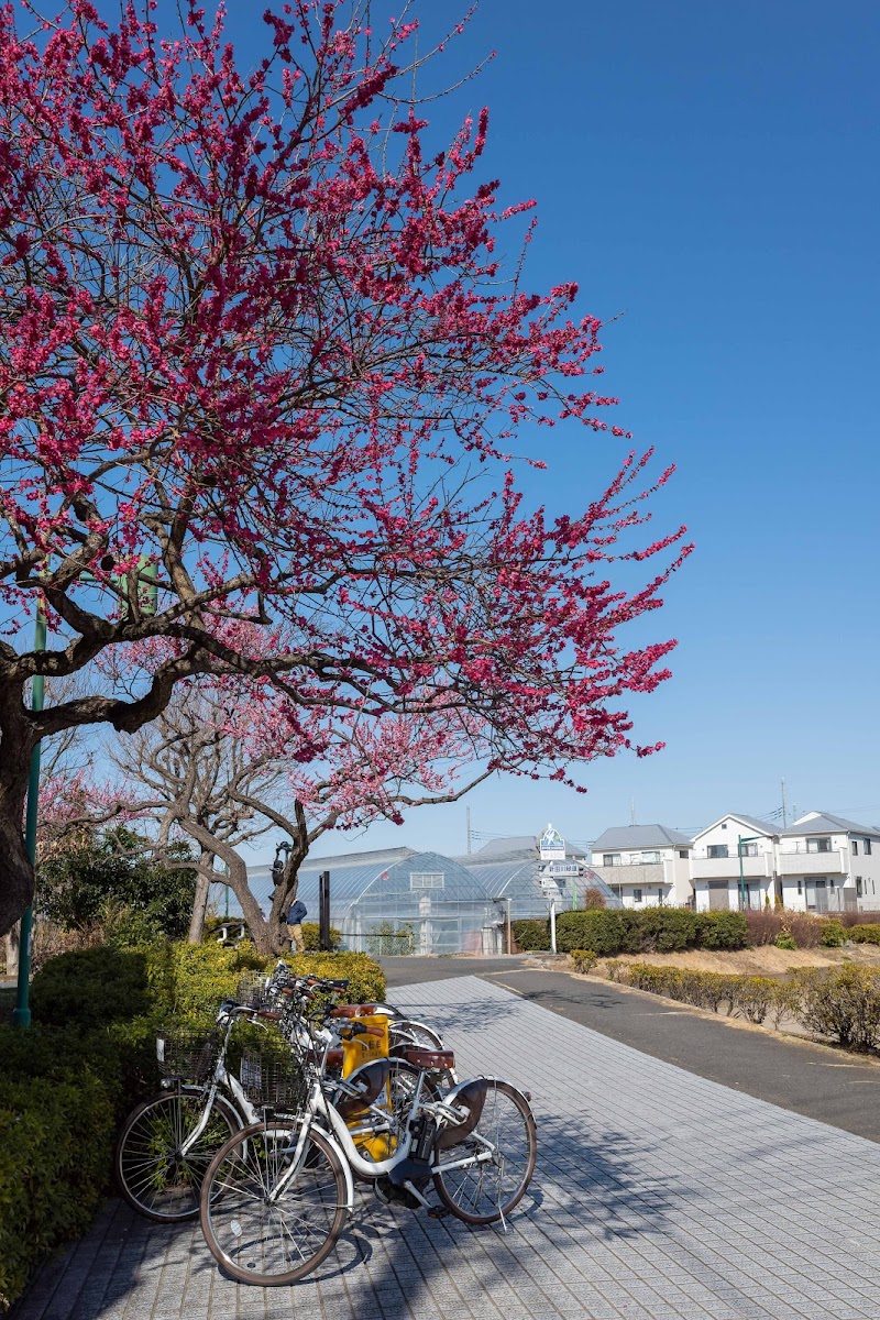
<path fill-rule="evenodd" d="M 239 1283 L 296 1283 L 332 1250 L 347 1214 L 336 1151 L 311 1127 L 296 1170 L 299 1125 L 245 1127 L 216 1152 L 202 1185 L 202 1232 Z"/>

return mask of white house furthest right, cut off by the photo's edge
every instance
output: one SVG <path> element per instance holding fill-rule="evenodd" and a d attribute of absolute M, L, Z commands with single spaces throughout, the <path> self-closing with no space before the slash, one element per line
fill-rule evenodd
<path fill-rule="evenodd" d="M 780 832 L 777 871 L 785 907 L 880 909 L 880 829 L 807 812 Z"/>

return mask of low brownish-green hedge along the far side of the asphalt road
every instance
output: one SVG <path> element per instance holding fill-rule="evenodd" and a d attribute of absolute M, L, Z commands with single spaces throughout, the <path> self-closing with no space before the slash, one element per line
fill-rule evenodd
<path fill-rule="evenodd" d="M 868 968 L 831 968 L 794 972 L 789 979 L 693 972 L 648 962 L 611 961 L 611 981 L 678 999 L 697 1008 L 763 1023 L 770 1014 L 778 1030 L 782 1018 L 794 1018 L 821 1036 L 862 1052 L 880 1047 L 880 972 Z"/>

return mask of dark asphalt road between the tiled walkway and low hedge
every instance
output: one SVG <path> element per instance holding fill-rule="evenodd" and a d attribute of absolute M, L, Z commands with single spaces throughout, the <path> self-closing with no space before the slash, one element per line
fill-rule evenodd
<path fill-rule="evenodd" d="M 880 1064 L 525 958 L 383 958 L 394 985 L 479 975 L 654 1059 L 880 1142 Z"/>

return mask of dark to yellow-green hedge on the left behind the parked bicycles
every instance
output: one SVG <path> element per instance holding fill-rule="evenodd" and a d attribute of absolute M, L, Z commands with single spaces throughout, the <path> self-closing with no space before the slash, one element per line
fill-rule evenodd
<path fill-rule="evenodd" d="M 348 977 L 352 1001 L 385 995 L 363 953 L 301 954 L 297 972 Z M 34 1023 L 0 1026 L 0 1312 L 57 1245 L 84 1232 L 108 1189 L 116 1129 L 157 1085 L 156 1031 L 206 1020 L 247 972 L 274 960 L 251 944 L 100 946 L 34 975 Z"/>

